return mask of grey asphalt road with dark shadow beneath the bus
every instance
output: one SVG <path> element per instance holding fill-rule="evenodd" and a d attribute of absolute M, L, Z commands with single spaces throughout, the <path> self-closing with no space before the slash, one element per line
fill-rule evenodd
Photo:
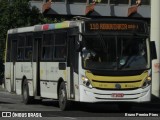
<path fill-rule="evenodd" d="M 38 113 L 37 116 L 42 116 L 42 118 L 38 119 L 45 120 L 159 120 L 160 100 L 154 99 L 154 102 L 151 103 L 133 104 L 131 111 L 126 111 L 125 108 L 123 111 L 121 111 L 118 109 L 118 106 L 115 103 L 73 103 L 70 110 L 62 112 L 58 108 L 58 102 L 50 99 L 45 99 L 41 102 L 36 101 L 30 105 L 24 105 L 21 96 L 14 93 L 9 93 L 0 86 L 0 116 L 2 116 L 2 112 L 11 112 L 12 116 L 14 117 L 18 115 L 18 113 L 27 116 L 30 115 L 30 113 Z M 149 115 L 152 117 L 148 117 Z M 22 118 L 16 117 L 9 119 L 18 120 Z"/>

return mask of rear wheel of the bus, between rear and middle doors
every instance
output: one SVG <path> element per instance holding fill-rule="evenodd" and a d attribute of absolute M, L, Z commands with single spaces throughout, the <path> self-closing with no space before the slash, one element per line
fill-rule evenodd
<path fill-rule="evenodd" d="M 29 96 L 29 87 L 27 80 L 24 80 L 23 82 L 22 98 L 25 104 L 30 104 L 33 101 L 33 97 Z"/>

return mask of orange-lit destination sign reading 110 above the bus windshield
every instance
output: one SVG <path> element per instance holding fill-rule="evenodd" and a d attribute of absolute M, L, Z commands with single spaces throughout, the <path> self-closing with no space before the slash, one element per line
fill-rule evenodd
<path fill-rule="evenodd" d="M 136 31 L 136 32 L 146 32 L 145 24 L 142 22 L 116 22 L 116 21 L 86 21 L 85 31 Z"/>

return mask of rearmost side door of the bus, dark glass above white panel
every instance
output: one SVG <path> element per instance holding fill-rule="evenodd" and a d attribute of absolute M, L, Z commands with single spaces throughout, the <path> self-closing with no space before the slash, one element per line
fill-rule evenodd
<path fill-rule="evenodd" d="M 16 81 L 17 40 L 11 41 L 11 92 L 15 91 Z"/>

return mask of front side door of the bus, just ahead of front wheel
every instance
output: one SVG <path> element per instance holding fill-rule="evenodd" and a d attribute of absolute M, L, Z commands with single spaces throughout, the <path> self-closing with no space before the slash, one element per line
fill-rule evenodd
<path fill-rule="evenodd" d="M 70 98 L 77 99 L 78 96 L 78 52 L 76 52 L 76 36 L 69 40 L 69 64 L 70 64 Z"/>

